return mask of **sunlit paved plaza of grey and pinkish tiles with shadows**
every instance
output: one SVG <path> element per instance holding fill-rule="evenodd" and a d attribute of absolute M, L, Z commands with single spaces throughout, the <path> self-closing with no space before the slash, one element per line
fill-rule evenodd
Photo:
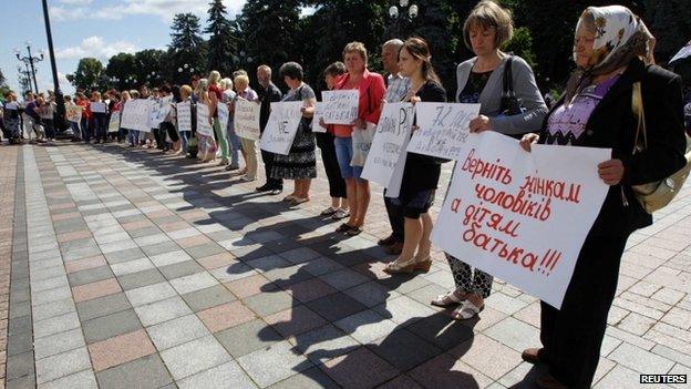
<path fill-rule="evenodd" d="M 427 274 L 382 272 L 379 186 L 348 237 L 319 216 L 321 167 L 289 207 L 156 150 L 3 145 L 0 164 L 7 388 L 498 389 L 542 372 L 520 359 L 539 345 L 536 298 L 497 281 L 456 323 L 429 304 L 453 287 L 443 253 Z M 596 388 L 691 375 L 691 190 L 656 218 L 623 256 Z"/>

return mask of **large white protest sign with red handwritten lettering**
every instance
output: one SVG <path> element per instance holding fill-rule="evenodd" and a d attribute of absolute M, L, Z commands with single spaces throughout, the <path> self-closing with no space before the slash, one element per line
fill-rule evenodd
<path fill-rule="evenodd" d="M 432 232 L 444 252 L 560 308 L 609 186 L 609 149 L 534 145 L 472 134 Z"/>

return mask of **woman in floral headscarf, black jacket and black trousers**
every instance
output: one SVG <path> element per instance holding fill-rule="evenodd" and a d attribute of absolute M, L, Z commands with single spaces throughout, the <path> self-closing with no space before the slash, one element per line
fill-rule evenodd
<path fill-rule="evenodd" d="M 612 158 L 598 166 L 610 185 L 580 250 L 561 309 L 542 303 L 543 348 L 527 349 L 528 362 L 544 362 L 543 388 L 590 388 L 617 289 L 619 263 L 629 234 L 652 223 L 631 185 L 663 180 L 684 165 L 681 80 L 641 60 L 653 38 L 620 6 L 588 8 L 576 28 L 571 75 L 565 98 L 538 134 L 522 140 L 558 146 L 607 147 Z M 648 145 L 633 153 L 638 119 L 631 99 L 641 83 Z M 546 237 L 549 238 L 549 237 Z"/>

